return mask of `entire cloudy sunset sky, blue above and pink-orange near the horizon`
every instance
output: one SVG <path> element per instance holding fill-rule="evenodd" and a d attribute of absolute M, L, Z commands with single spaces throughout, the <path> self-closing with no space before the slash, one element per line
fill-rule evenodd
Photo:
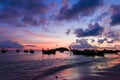
<path fill-rule="evenodd" d="M 120 48 L 120 0 L 0 0 L 0 48 Z"/>

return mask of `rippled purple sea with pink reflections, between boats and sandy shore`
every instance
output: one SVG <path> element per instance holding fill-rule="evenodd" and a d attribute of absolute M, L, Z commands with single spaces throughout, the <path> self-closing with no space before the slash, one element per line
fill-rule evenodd
<path fill-rule="evenodd" d="M 9 51 L 0 54 L 0 80 L 43 80 L 44 77 L 64 69 L 102 58 L 74 56 L 71 52 L 42 55 L 41 51 L 36 51 L 34 54 Z"/>

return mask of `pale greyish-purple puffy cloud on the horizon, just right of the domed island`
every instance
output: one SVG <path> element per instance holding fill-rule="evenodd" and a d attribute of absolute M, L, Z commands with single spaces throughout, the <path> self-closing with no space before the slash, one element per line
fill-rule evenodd
<path fill-rule="evenodd" d="M 92 46 L 87 42 L 86 39 L 76 40 L 76 43 L 70 45 L 71 48 L 79 49 L 79 48 L 95 48 L 96 46 Z"/>

